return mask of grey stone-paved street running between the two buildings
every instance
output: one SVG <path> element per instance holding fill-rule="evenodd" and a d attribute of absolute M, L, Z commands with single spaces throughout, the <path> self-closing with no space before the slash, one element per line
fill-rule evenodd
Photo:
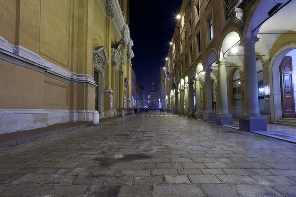
<path fill-rule="evenodd" d="M 135 114 L 0 150 L 2 196 L 296 197 L 296 144 Z"/>

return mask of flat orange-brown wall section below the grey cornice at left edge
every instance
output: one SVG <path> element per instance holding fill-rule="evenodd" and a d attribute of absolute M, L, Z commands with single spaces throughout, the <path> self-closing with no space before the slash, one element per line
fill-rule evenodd
<path fill-rule="evenodd" d="M 0 108 L 42 109 L 44 74 L 0 61 Z"/>

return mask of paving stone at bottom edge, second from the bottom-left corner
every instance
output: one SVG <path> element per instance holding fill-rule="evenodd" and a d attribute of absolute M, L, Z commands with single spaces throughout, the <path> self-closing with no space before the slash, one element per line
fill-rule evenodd
<path fill-rule="evenodd" d="M 89 185 L 56 185 L 46 195 L 52 195 L 53 197 L 81 197 L 88 188 Z"/>

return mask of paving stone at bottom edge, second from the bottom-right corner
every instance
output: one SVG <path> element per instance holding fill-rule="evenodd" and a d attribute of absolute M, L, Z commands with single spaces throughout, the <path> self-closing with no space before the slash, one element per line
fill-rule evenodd
<path fill-rule="evenodd" d="M 284 197 L 267 185 L 233 185 L 232 188 L 242 197 Z"/>

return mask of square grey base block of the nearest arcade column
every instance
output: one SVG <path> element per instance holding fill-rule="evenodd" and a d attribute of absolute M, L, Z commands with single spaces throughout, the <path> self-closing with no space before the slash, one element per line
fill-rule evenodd
<path fill-rule="evenodd" d="M 242 131 L 267 131 L 267 120 L 264 116 L 242 116 L 239 119 Z"/>

